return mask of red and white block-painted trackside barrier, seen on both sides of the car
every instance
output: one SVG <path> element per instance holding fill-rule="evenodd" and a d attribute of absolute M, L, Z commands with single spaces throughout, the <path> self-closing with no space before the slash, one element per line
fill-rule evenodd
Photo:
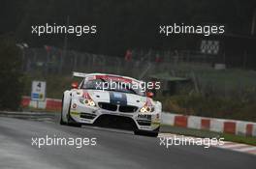
<path fill-rule="evenodd" d="M 23 97 L 23 107 L 35 107 L 47 110 L 60 111 L 61 99 L 46 99 L 45 101 L 33 101 L 30 97 Z M 256 123 L 245 121 L 234 121 L 227 119 L 207 118 L 199 116 L 185 116 L 173 113 L 162 113 L 162 124 L 175 127 L 188 127 L 196 129 L 208 129 L 216 132 L 256 136 Z"/>

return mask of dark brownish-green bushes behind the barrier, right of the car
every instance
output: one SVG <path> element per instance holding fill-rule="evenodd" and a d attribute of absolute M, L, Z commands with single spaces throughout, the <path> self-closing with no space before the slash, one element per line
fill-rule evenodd
<path fill-rule="evenodd" d="M 250 95 L 256 93 L 245 95 L 243 92 L 243 97 L 230 98 L 193 93 L 160 100 L 163 109 L 173 113 L 256 122 L 256 100 Z"/>

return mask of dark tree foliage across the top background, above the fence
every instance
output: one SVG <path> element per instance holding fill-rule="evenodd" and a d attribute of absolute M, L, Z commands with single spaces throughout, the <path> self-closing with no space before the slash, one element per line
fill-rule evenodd
<path fill-rule="evenodd" d="M 68 47 L 98 54 L 123 56 L 127 48 L 188 49 L 195 45 L 183 36 L 163 39 L 160 24 L 225 24 L 228 33 L 249 35 L 255 1 L 249 0 L 63 0 L 1 1 L 1 30 L 34 46 L 63 47 L 64 36 L 31 34 L 32 25 L 96 24 L 96 36 L 68 36 Z M 217 13 L 216 13 L 217 12 Z M 1 32 L 0 30 L 0 32 Z M 185 41 L 183 41 L 185 40 Z"/>

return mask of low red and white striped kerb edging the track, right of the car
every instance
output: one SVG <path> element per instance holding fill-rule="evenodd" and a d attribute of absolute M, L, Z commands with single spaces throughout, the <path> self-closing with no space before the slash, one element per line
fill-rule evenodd
<path fill-rule="evenodd" d="M 165 138 L 198 138 L 198 137 L 192 137 L 192 136 L 184 136 L 184 135 L 178 135 L 178 134 L 172 134 L 172 133 L 159 133 L 158 137 L 165 137 Z M 236 151 L 240 153 L 250 154 L 250 155 L 256 155 L 256 146 L 241 144 L 241 143 L 235 143 L 230 141 L 223 141 L 223 145 L 214 145 L 212 147 L 230 150 L 230 151 Z"/>

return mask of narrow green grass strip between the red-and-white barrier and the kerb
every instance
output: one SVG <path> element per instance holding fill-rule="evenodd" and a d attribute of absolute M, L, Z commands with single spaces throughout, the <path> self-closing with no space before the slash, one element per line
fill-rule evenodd
<path fill-rule="evenodd" d="M 171 132 L 171 133 L 180 134 L 180 135 L 202 137 L 202 138 L 223 137 L 225 141 L 232 141 L 232 142 L 256 146 L 256 137 L 219 133 L 219 132 L 203 130 L 203 129 L 173 127 L 173 126 L 168 126 L 168 125 L 162 125 L 160 131 L 161 132 Z"/>

